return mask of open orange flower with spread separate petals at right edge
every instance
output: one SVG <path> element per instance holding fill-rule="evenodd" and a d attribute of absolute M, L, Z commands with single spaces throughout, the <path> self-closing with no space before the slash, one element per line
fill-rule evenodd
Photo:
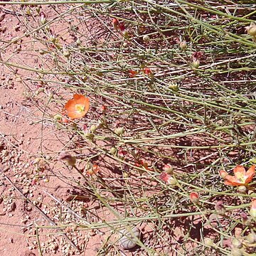
<path fill-rule="evenodd" d="M 251 166 L 245 171 L 243 166 L 236 166 L 234 169 L 235 176 L 229 175 L 226 171 L 220 171 L 220 177 L 225 179 L 224 184 L 230 186 L 245 186 L 252 181 L 255 175 L 255 166 Z"/>

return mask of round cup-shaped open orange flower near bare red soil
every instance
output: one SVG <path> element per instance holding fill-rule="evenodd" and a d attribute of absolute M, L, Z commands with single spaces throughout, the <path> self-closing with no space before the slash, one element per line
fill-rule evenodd
<path fill-rule="evenodd" d="M 68 111 L 68 117 L 71 119 L 84 117 L 89 110 L 89 98 L 84 95 L 75 94 L 72 100 L 65 104 L 65 110 Z"/>

